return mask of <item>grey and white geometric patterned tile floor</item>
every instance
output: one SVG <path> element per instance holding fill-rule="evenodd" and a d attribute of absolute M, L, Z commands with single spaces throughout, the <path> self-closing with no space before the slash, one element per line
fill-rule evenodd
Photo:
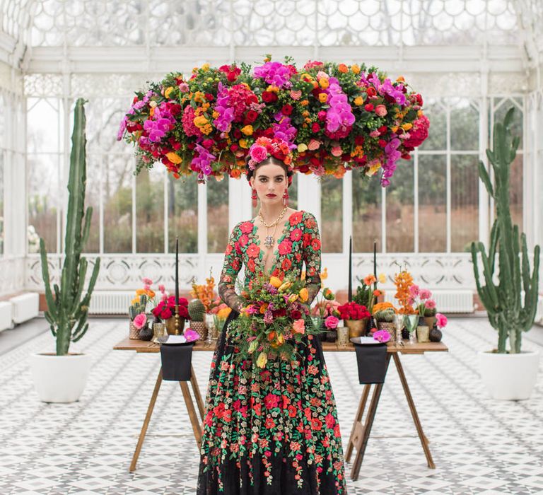
<path fill-rule="evenodd" d="M 74 346 L 93 357 L 75 404 L 44 404 L 33 390 L 28 355 L 51 350 L 48 333 L 0 356 L 0 494 L 194 493 L 197 448 L 177 383 L 163 383 L 138 470 L 128 472 L 160 358 L 113 351 L 127 333 L 124 320 L 92 320 Z M 527 334 L 525 349 L 541 351 L 542 333 L 536 327 Z M 448 354 L 402 358 L 436 470 L 426 467 L 391 365 L 349 494 L 543 494 L 542 367 L 531 400 L 490 400 L 476 353 L 495 342 L 486 319 L 452 319 L 444 340 Z M 346 443 L 362 386 L 354 354 L 326 357 Z M 202 390 L 210 359 L 211 353 L 194 354 Z"/>

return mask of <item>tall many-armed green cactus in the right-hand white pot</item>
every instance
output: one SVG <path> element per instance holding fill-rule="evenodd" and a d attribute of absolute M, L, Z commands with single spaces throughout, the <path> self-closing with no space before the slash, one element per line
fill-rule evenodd
<path fill-rule="evenodd" d="M 498 352 L 501 353 L 506 352 L 507 339 L 510 352 L 520 352 L 522 332 L 530 330 L 534 323 L 539 284 L 539 245 L 534 249 L 534 267 L 530 274 L 526 235 L 522 233 L 519 242 L 519 228 L 517 225 L 513 226 L 511 221 L 510 165 L 515 159 L 519 144 L 518 136 L 513 137 L 510 130 L 513 112 L 514 108 L 510 108 L 503 123 L 494 124 L 494 146 L 492 150 L 486 150 L 486 156 L 494 170 L 494 187 L 486 168 L 479 162 L 479 177 L 496 202 L 496 220 L 490 233 L 489 254 L 486 255 L 483 243 L 472 243 L 477 292 L 489 315 L 491 325 L 498 331 Z M 485 282 L 482 286 L 479 281 L 478 253 L 481 255 Z M 497 272 L 496 255 L 498 255 Z M 495 283 L 495 278 L 498 284 Z"/>

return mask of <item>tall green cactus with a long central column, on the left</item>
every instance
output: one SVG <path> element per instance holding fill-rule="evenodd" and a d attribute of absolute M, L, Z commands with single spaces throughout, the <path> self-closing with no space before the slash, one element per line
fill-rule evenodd
<path fill-rule="evenodd" d="M 66 215 L 66 239 L 64 241 L 64 264 L 60 288 L 54 284 L 54 297 L 49 279 L 47 251 L 43 238 L 40 238 L 42 276 L 45 284 L 47 311 L 45 318 L 57 337 L 57 356 L 66 356 L 70 342 L 77 342 L 88 330 L 88 305 L 100 271 L 100 258 L 96 259 L 93 274 L 86 295 L 81 299 L 83 284 L 87 273 L 87 260 L 81 257 L 91 229 L 93 209 L 85 213 L 86 185 L 86 136 L 85 100 L 76 101 L 74 132 L 71 135 L 70 175 L 68 180 L 68 211 Z M 84 219 L 84 225 L 83 225 Z"/>

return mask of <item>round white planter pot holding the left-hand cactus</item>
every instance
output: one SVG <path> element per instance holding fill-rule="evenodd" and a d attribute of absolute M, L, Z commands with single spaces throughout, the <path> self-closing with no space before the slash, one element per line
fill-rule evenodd
<path fill-rule="evenodd" d="M 75 402 L 83 393 L 89 371 L 88 354 L 30 356 L 30 373 L 42 402 Z"/>

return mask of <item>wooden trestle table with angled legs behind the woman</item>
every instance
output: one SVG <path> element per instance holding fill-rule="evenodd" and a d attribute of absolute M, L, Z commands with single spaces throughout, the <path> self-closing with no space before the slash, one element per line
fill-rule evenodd
<path fill-rule="evenodd" d="M 215 344 L 216 342 L 214 342 L 212 345 L 206 344 L 205 342 L 196 342 L 196 344 L 194 344 L 193 351 L 214 351 Z M 153 342 L 144 342 L 142 340 L 133 340 L 126 338 L 119 342 L 117 345 L 115 345 L 113 349 L 117 349 L 119 351 L 160 352 L 160 345 L 153 344 Z M 354 345 L 349 342 L 346 347 L 337 347 L 337 345 L 333 342 L 322 342 L 322 349 L 325 352 L 349 352 L 354 351 Z M 426 462 L 428 464 L 428 467 L 430 467 L 431 469 L 435 469 L 436 466 L 433 463 L 430 448 L 428 447 L 428 438 L 426 438 L 426 436 L 424 435 L 424 431 L 422 431 L 419 414 L 417 414 L 416 412 L 415 403 L 413 397 L 411 397 L 411 391 L 409 390 L 409 385 L 407 383 L 407 379 L 405 378 L 404 368 L 402 366 L 402 362 L 399 359 L 399 354 L 424 354 L 425 352 L 436 351 L 446 352 L 448 351 L 448 347 L 443 344 L 443 342 L 409 344 L 409 342 L 404 341 L 402 346 L 392 344 L 391 342 L 387 344 L 387 369 L 390 363 L 390 358 L 392 357 L 398 371 L 399 380 L 402 383 L 402 387 L 404 389 L 407 404 L 409 404 L 409 410 L 411 411 L 411 416 L 413 417 L 416 432 L 419 434 L 422 448 L 424 450 L 424 455 L 426 455 Z M 190 379 L 190 384 L 192 385 L 192 392 L 194 393 L 194 399 L 196 400 L 199 414 L 197 414 L 196 409 L 194 408 L 194 402 L 192 402 L 192 396 L 190 394 L 187 382 L 180 382 L 179 384 L 183 394 L 183 399 L 185 400 L 185 404 L 187 405 L 187 412 L 189 413 L 190 423 L 192 425 L 192 430 L 194 431 L 194 438 L 196 438 L 196 443 L 199 448 L 202 443 L 204 401 L 202 400 L 202 394 L 200 393 L 196 380 L 196 375 L 194 374 L 194 369 L 192 369 L 192 366 L 191 373 L 192 378 Z M 132 455 L 132 462 L 130 463 L 129 469 L 130 472 L 136 470 L 136 463 L 138 462 L 141 446 L 144 443 L 149 421 L 151 421 L 151 415 L 153 414 L 153 408 L 155 407 L 156 397 L 158 397 L 158 391 L 160 390 L 161 384 L 162 368 L 160 368 L 160 371 L 158 371 L 155 388 L 153 390 L 153 395 L 151 395 L 151 400 L 149 401 L 147 414 L 144 419 L 144 424 L 141 426 L 138 443 L 136 444 L 136 450 L 134 450 L 134 455 Z M 358 474 L 360 473 L 360 467 L 362 465 L 364 453 L 366 452 L 366 445 L 368 445 L 368 438 L 370 436 L 371 428 L 373 426 L 373 419 L 375 418 L 375 412 L 377 411 L 377 406 L 379 403 L 381 390 L 383 390 L 383 385 L 383 383 L 378 383 L 375 385 L 364 385 L 362 390 L 362 396 L 360 402 L 358 403 L 358 410 L 356 412 L 356 417 L 354 419 L 354 423 L 351 429 L 349 445 L 347 446 L 345 455 L 345 460 L 349 462 L 351 460 L 353 449 L 356 448 L 356 455 L 351 469 L 351 479 L 354 480 L 358 479 Z M 363 421 L 363 414 L 366 411 L 366 404 L 368 402 L 368 397 L 370 396 L 370 391 L 372 387 L 373 393 L 371 395 L 368 411 L 366 412 L 366 418 Z"/>

